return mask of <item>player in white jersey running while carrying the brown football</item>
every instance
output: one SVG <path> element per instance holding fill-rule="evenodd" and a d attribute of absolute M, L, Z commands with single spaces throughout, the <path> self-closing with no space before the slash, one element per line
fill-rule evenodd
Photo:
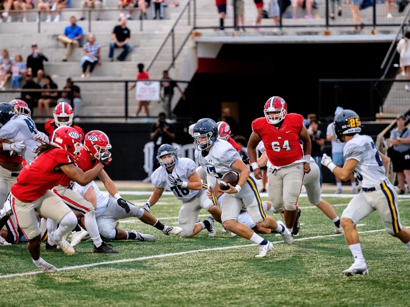
<path fill-rule="evenodd" d="M 238 222 L 238 214 L 243 204 L 256 225 L 276 230 L 283 236 L 285 243 L 292 244 L 292 236 L 283 223 L 276 223 L 271 216 L 266 216 L 256 181 L 249 177 L 250 170 L 243 163 L 239 153 L 227 141 L 218 140 L 216 122 L 210 118 L 198 120 L 192 136 L 196 148 L 195 159 L 207 172 L 209 198 L 213 197 L 213 187 L 219 183 L 225 173 L 229 171 L 240 173 L 238 184 L 235 187 L 228 184 L 229 190 L 223 191 L 225 195 L 220 204 L 223 227 L 242 238 L 259 244 L 259 253 L 255 257 L 266 256 L 273 247 L 272 243 L 254 233 L 248 226 Z"/>

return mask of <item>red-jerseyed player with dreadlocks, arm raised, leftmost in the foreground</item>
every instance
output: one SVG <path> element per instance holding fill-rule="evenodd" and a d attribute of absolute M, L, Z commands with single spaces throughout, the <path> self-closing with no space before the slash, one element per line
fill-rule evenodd
<path fill-rule="evenodd" d="M 50 144 L 39 146 L 38 157 L 26 165 L 11 189 L 12 209 L 16 221 L 28 239 L 28 251 L 34 264 L 43 272 L 56 272 L 53 265 L 40 257 L 41 230 L 35 215 L 52 218 L 60 224 L 52 234 L 52 242 L 72 255 L 74 248 L 63 239 L 77 225 L 76 215 L 50 189 L 57 186 L 66 176 L 81 185 L 90 183 L 106 166 L 111 158 L 103 154 L 98 165 L 83 172 L 73 165 L 73 154 L 81 146 L 79 135 L 71 127 L 60 127 L 54 131 Z"/>

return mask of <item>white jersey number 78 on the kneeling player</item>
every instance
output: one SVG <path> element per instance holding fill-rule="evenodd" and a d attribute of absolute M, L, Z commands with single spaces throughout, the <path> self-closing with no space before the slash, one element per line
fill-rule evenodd
<path fill-rule="evenodd" d="M 189 177 L 197 169 L 195 162 L 189 158 L 178 158 L 174 164 L 172 172 L 168 172 L 165 167 L 157 168 L 151 175 L 151 182 L 154 186 L 172 191 L 175 197 L 182 201 L 190 201 L 194 198 L 199 190 L 189 190 L 182 188 L 181 186 L 170 185 L 168 181 L 168 174 L 171 174 L 174 178 L 179 178 L 182 181 L 189 182 Z"/>

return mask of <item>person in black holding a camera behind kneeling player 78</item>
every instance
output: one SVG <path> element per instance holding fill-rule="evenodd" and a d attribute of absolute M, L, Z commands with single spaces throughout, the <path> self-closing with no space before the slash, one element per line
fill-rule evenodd
<path fill-rule="evenodd" d="M 154 142 L 153 170 L 160 165 L 157 160 L 157 151 L 162 144 L 171 144 L 175 139 L 174 125 L 166 121 L 167 115 L 164 112 L 158 114 L 158 121 L 151 126 L 151 140 Z"/>

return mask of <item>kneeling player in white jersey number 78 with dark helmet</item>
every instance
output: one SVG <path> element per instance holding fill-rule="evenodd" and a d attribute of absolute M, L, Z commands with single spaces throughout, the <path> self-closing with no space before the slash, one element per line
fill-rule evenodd
<path fill-rule="evenodd" d="M 151 175 L 155 191 L 148 200 L 148 206 L 153 206 L 160 199 L 164 189 L 172 191 L 178 200 L 182 201 L 179 210 L 178 223 L 182 229 L 182 238 L 191 238 L 207 229 L 209 236 L 216 234 L 213 221 L 220 222 L 221 210 L 216 202 L 206 196 L 207 186 L 203 185 L 196 172 L 196 164 L 188 158 L 177 158 L 176 149 L 169 144 L 163 144 L 158 149 L 158 162 L 162 167 L 157 168 Z M 204 209 L 212 217 L 196 223 L 199 211 Z"/>

